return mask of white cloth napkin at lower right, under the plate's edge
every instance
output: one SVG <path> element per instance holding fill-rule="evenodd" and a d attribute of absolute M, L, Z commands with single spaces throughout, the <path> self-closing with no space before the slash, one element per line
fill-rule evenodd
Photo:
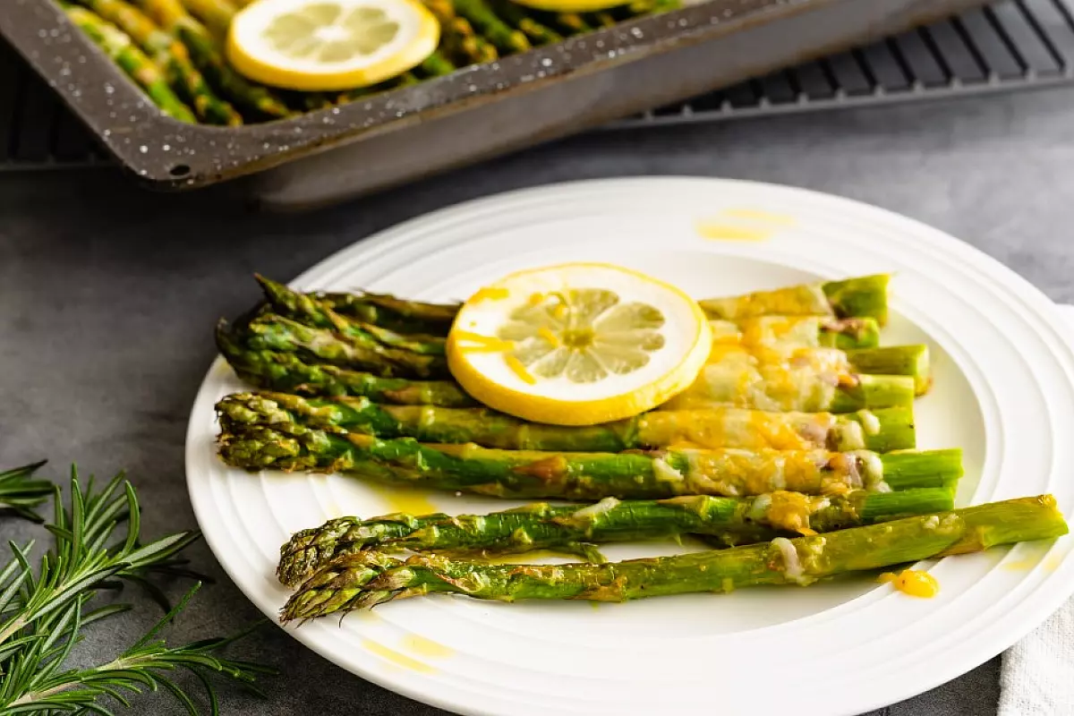
<path fill-rule="evenodd" d="M 1074 331 L 1074 306 L 1060 306 Z M 1074 599 L 1003 654 L 999 716 L 1074 716 Z"/>

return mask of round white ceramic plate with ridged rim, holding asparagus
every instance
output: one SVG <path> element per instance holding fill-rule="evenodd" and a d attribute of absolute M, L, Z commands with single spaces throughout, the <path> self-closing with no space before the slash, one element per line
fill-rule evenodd
<path fill-rule="evenodd" d="M 1074 515 L 1074 351 L 1054 305 L 969 246 L 874 207 L 719 179 L 560 185 L 409 221 L 294 284 L 462 298 L 508 272 L 586 260 L 643 269 L 698 297 L 894 272 L 884 342 L 932 348 L 919 443 L 966 451 L 959 505 L 1050 492 Z M 294 530 L 344 514 L 516 505 L 229 469 L 214 454 L 213 404 L 242 388 L 218 360 L 190 418 L 187 478 L 209 545 L 270 616 L 288 596 L 273 569 Z M 871 576 L 599 608 L 427 597 L 289 632 L 364 678 L 468 714 L 855 714 L 954 678 L 1042 622 L 1074 590 L 1070 549 L 1062 539 L 927 562 L 941 584 L 934 599 Z"/>

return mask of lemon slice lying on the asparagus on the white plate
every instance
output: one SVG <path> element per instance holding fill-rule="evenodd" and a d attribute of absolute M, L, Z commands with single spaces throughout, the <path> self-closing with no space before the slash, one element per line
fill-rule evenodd
<path fill-rule="evenodd" d="M 525 271 L 478 291 L 448 334 L 466 391 L 541 423 L 636 415 L 685 390 L 711 348 L 685 293 L 634 271 L 576 263 Z"/>

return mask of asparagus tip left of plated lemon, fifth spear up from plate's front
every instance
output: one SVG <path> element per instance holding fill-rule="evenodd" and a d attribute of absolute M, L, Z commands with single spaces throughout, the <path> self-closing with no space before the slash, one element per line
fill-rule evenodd
<path fill-rule="evenodd" d="M 243 380 L 259 388 L 308 395 L 358 395 L 377 403 L 467 408 L 477 404 L 453 381 L 381 378 L 331 365 L 308 365 L 294 353 L 242 345 L 220 321 L 216 345 Z"/>

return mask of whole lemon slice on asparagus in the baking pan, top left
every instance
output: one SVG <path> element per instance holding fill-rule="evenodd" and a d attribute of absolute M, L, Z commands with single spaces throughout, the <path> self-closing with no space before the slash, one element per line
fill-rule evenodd
<path fill-rule="evenodd" d="M 228 60 L 265 85 L 337 91 L 406 72 L 439 38 L 417 0 L 259 0 L 235 15 Z"/>

